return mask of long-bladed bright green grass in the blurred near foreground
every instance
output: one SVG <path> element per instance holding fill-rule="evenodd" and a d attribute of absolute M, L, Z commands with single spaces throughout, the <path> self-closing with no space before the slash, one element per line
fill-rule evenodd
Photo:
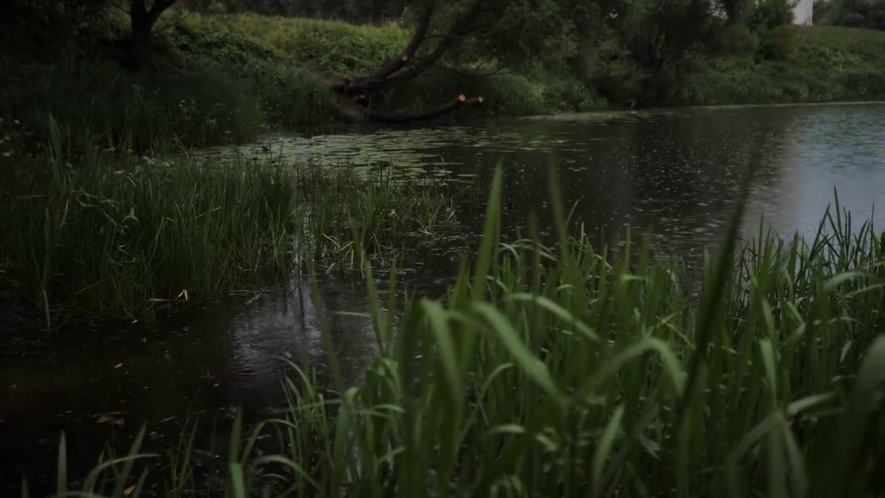
<path fill-rule="evenodd" d="M 499 245 L 500 184 L 444 300 L 396 320 L 370 285 L 381 356 L 360 385 L 296 375 L 289 409 L 235 424 L 210 463 L 223 483 L 176 457 L 161 495 L 881 494 L 885 240 L 868 224 L 741 245 L 735 222 L 695 298 L 649 245 L 628 261 L 566 237 L 561 210 L 558 247 Z M 156 495 L 141 436 L 83 491 Z"/>

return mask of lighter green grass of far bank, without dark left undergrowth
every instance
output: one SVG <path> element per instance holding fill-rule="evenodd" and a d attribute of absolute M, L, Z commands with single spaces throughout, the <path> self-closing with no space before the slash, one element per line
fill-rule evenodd
<path fill-rule="evenodd" d="M 250 14 L 205 20 L 240 29 L 292 54 L 300 64 L 319 74 L 336 76 L 371 73 L 396 58 L 410 35 L 393 26 L 355 27 L 341 22 Z M 661 104 L 750 105 L 885 98 L 885 34 L 843 27 L 789 27 L 777 42 L 778 57 L 761 61 L 752 51 L 740 49 L 713 58 L 700 52 L 691 54 L 681 68 L 687 76 L 671 80 L 673 88 L 661 90 L 666 96 Z M 486 105 L 472 112 L 524 115 L 620 107 L 629 97 L 643 96 L 638 84 L 640 71 L 631 62 L 606 53 L 604 47 L 586 57 L 592 67 L 586 77 L 551 74 L 542 69 L 488 78 L 473 78 L 469 72 L 430 72 L 392 91 L 383 105 L 420 108 L 466 93 L 487 100 Z M 473 65 L 489 66 L 482 60 Z M 609 86 L 620 89 L 606 91 Z M 614 100 L 606 101 L 602 94 L 612 94 Z"/>

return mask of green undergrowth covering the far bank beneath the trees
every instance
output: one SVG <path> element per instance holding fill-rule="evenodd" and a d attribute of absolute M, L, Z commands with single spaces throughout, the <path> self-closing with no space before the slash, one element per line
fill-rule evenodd
<path fill-rule="evenodd" d="M 370 73 L 395 58 L 410 35 L 394 25 L 170 13 L 157 27 L 158 70 L 130 74 L 120 65 L 125 51 L 114 41 L 125 36 L 125 21 L 112 19 L 101 34 L 82 35 L 88 43 L 75 42 L 73 49 L 28 51 L 22 44 L 4 51 L 0 117 L 43 130 L 52 113 L 73 144 L 87 136 L 138 150 L 170 136 L 185 145 L 249 140 L 274 128 L 340 121 L 341 107 L 323 79 Z M 885 98 L 885 34 L 840 27 L 789 27 L 782 33 L 773 59 L 757 61 L 757 49 L 715 57 L 689 53 L 660 79 L 658 104 Z M 535 66 L 488 75 L 489 61 L 460 61 L 466 69 L 435 68 L 380 95 L 373 107 L 424 109 L 461 93 L 485 97 L 483 105 L 456 111 L 457 119 L 589 111 L 642 99 L 648 92 L 642 70 L 608 50 L 603 45 L 584 54 L 586 74 Z"/>

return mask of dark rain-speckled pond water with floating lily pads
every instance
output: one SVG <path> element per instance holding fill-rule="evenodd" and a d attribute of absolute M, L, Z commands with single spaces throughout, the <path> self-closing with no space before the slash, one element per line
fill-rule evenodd
<path fill-rule="evenodd" d="M 463 175 L 488 183 L 505 172 L 511 224 L 535 212 L 549 220 L 547 165 L 559 168 L 561 194 L 577 202 L 577 219 L 612 241 L 627 227 L 654 226 L 659 245 L 686 257 L 715 246 L 726 230 L 742 175 L 754 172 L 745 231 L 760 217 L 784 235 L 812 232 L 838 190 L 857 219 L 885 201 L 885 105 L 818 105 L 691 109 L 492 121 L 456 128 L 376 129 L 324 136 L 277 137 L 245 154 L 269 150 L 290 159 L 404 175 Z M 212 154 L 219 151 L 206 151 Z M 227 150 L 226 152 L 229 152 Z M 391 166 L 392 165 L 392 166 Z M 477 206 L 458 214 L 478 232 Z M 874 214 L 876 226 L 885 221 Z M 405 276 L 419 292 L 438 292 L 434 265 Z M 450 265 L 445 265 L 450 268 Z M 322 306 L 365 312 L 365 287 L 327 276 Z M 423 285 L 423 287 L 422 287 Z M 280 402 L 289 357 L 324 373 L 316 306 L 306 283 L 239 294 L 157 323 L 118 323 L 111 330 L 59 332 L 34 345 L 0 338 L 0 495 L 15 495 L 21 473 L 51 485 L 58 432 L 74 463 L 94 462 L 105 440 L 131 440 L 151 422 L 154 450 L 177 444 L 189 414 L 252 416 Z M 368 320 L 333 315 L 343 375 L 358 382 L 373 354 Z M 219 424 L 227 426 L 227 423 Z M 47 466 L 49 465 L 49 466 Z M 34 479 L 32 479 L 34 480 Z M 32 485 L 35 484 L 32 482 Z"/>

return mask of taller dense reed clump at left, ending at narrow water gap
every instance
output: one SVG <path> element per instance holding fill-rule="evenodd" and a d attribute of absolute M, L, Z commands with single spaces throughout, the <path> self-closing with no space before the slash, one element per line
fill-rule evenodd
<path fill-rule="evenodd" d="M 139 315 L 291 267 L 291 171 L 102 149 L 67 162 L 55 144 L 4 164 L 7 299 Z"/>

